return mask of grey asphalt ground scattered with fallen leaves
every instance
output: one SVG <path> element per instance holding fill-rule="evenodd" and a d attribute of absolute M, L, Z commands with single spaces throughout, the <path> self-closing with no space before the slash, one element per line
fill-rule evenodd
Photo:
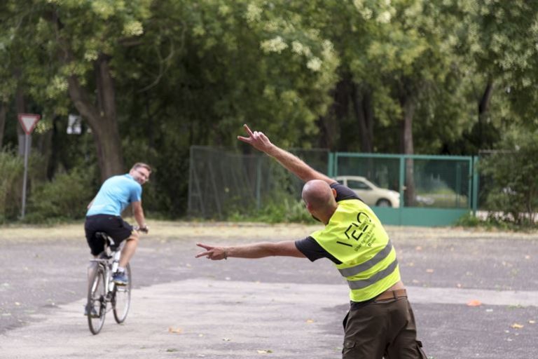
<path fill-rule="evenodd" d="M 97 336 L 82 314 L 81 226 L 0 229 L 0 358 L 339 358 L 347 289 L 329 261 L 194 258 L 200 241 L 315 229 L 156 223 L 132 260 L 126 323 L 109 313 Z M 388 231 L 429 357 L 538 358 L 536 233 Z"/>

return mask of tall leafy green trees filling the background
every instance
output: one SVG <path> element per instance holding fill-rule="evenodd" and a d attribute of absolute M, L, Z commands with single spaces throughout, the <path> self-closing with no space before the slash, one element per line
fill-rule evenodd
<path fill-rule="evenodd" d="M 524 0 L 6 0 L 0 145 L 12 153 L 16 114 L 38 112 L 36 198 L 60 173 L 93 191 L 147 161 L 157 171 L 144 201 L 169 216 L 186 208 L 189 147 L 237 146 L 244 122 L 284 147 L 478 154 L 538 128 L 537 11 Z M 66 134 L 68 114 L 83 117 L 81 135 Z"/>

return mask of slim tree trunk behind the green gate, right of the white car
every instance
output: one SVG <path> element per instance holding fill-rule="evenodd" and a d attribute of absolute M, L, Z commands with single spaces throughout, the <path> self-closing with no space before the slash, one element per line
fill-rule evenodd
<path fill-rule="evenodd" d="M 400 98 L 400 106 L 403 114 L 402 121 L 402 141 L 403 154 L 411 155 L 413 148 L 413 115 L 415 114 L 415 103 L 408 95 Z M 414 178 L 413 158 L 406 158 L 406 191 L 405 205 L 412 207 L 415 205 L 415 178 Z"/>

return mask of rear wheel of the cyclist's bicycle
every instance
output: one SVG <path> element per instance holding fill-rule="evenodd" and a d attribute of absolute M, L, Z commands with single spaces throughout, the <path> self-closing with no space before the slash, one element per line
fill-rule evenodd
<path fill-rule="evenodd" d="M 97 269 L 90 277 L 88 283 L 88 326 L 92 334 L 98 334 L 104 324 L 104 316 L 106 314 L 106 280 L 104 269 L 102 266 L 97 266 Z"/>

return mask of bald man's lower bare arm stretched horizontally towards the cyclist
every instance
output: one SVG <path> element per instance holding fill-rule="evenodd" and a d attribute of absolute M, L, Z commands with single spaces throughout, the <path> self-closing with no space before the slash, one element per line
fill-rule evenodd
<path fill-rule="evenodd" d="M 259 242 L 247 245 L 237 245 L 233 247 L 216 247 L 214 245 L 206 245 L 196 243 L 198 247 L 204 248 L 204 252 L 198 253 L 196 258 L 207 257 L 208 259 L 220 260 L 228 257 L 237 258 L 263 258 L 271 256 L 287 256 L 287 257 L 302 257 L 303 252 L 297 249 L 294 241 L 282 242 Z"/>

